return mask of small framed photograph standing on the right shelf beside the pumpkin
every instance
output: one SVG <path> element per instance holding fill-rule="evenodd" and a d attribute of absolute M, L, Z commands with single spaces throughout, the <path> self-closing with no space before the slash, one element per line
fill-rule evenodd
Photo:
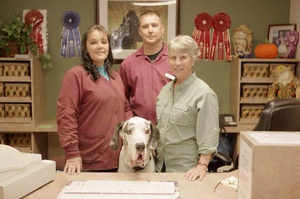
<path fill-rule="evenodd" d="M 268 28 L 268 42 L 278 47 L 278 57 L 284 57 L 287 52 L 284 36 L 290 30 L 296 30 L 296 24 L 271 24 Z"/>

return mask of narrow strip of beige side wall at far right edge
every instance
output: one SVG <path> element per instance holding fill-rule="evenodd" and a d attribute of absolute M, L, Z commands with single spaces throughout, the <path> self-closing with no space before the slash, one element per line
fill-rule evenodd
<path fill-rule="evenodd" d="M 297 24 L 297 31 L 299 31 L 300 25 L 300 0 L 290 0 L 290 13 L 289 13 L 289 23 Z M 295 58 L 300 58 L 300 45 L 297 45 L 297 49 L 294 54 Z"/>

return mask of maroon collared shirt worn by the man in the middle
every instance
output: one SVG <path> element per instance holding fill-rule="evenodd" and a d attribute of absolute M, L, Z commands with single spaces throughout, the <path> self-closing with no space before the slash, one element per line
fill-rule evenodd
<path fill-rule="evenodd" d="M 121 63 L 119 74 L 125 86 L 125 95 L 134 115 L 156 123 L 156 98 L 161 88 L 170 81 L 167 47 L 151 62 L 139 48 Z"/>

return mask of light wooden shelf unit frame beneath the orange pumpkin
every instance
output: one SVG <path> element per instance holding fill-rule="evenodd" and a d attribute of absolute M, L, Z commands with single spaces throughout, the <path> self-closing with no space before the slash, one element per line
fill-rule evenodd
<path fill-rule="evenodd" d="M 273 83 L 271 77 L 264 78 L 251 78 L 242 77 L 241 68 L 244 63 L 293 63 L 295 64 L 294 74 L 297 78 L 300 77 L 300 59 L 232 59 L 230 63 L 230 94 L 229 94 L 229 112 L 236 118 L 237 125 L 256 124 L 258 119 L 242 119 L 240 118 L 240 108 L 242 104 L 264 105 L 266 98 L 242 98 L 241 97 L 241 84 L 266 84 Z M 243 129 L 241 129 L 243 130 Z"/>

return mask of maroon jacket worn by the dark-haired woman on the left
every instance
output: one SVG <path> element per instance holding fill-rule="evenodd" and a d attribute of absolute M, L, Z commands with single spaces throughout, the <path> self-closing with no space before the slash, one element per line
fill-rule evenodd
<path fill-rule="evenodd" d="M 83 170 L 117 168 L 119 150 L 109 142 L 116 125 L 132 117 L 117 72 L 110 82 L 90 79 L 83 66 L 68 70 L 57 100 L 57 134 L 65 158 L 81 157 Z M 119 142 L 120 143 L 120 142 Z"/>

